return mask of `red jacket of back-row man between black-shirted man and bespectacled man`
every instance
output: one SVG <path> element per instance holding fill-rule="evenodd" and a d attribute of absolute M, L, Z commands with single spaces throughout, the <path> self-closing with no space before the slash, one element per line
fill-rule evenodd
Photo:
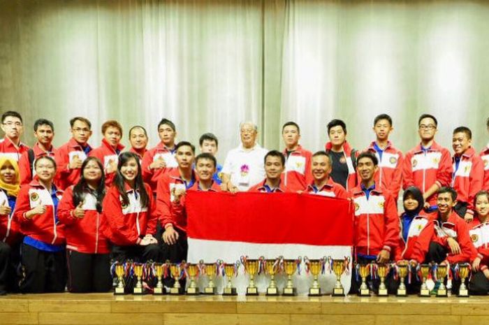
<path fill-rule="evenodd" d="M 394 198 L 397 198 L 402 182 L 402 152 L 397 150 L 391 141 L 388 141 L 381 158 L 375 150 L 374 144 L 375 141 L 367 147 L 367 151 L 373 152 L 379 159 L 379 170 L 375 173 L 375 183 L 380 184 L 381 189 L 386 189 L 393 194 Z"/>

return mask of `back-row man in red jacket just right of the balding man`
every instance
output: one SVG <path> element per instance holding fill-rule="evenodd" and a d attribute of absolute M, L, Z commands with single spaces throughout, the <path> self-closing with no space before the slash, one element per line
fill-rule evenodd
<path fill-rule="evenodd" d="M 162 119 L 158 124 L 158 136 L 160 143 L 147 150 L 143 156 L 143 180 L 149 184 L 152 193 L 156 194 L 158 180 L 162 175 L 177 168 L 175 160 L 175 138 L 177 130 L 175 124 L 167 119 Z"/>

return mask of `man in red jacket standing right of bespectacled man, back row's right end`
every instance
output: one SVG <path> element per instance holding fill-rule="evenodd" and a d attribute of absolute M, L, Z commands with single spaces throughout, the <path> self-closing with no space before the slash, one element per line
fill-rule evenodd
<path fill-rule="evenodd" d="M 453 130 L 453 177 L 451 186 L 457 192 L 455 212 L 466 222 L 474 219 L 474 197 L 481 191 L 484 166 L 481 157 L 472 148 L 472 131 L 468 127 Z"/>

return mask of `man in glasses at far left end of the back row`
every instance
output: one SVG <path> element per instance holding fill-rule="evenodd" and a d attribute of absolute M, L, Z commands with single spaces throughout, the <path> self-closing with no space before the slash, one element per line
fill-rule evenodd
<path fill-rule="evenodd" d="M 0 156 L 12 158 L 18 162 L 20 156 L 29 150 L 27 145 L 20 142 L 20 137 L 24 133 L 22 116 L 13 110 L 3 113 L 1 115 L 1 130 L 5 133 L 5 137 L 0 140 Z"/>

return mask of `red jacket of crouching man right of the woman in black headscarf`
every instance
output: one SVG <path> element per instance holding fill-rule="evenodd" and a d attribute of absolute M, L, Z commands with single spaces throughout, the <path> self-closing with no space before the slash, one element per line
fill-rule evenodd
<path fill-rule="evenodd" d="M 457 240 L 458 245 L 460 245 L 460 254 L 452 254 L 447 243 L 448 237 Z M 472 262 L 477 255 L 472 240 L 470 240 L 469 227 L 455 211 L 450 213 L 446 222 L 441 222 L 439 218 L 435 219 L 435 232 L 432 242 L 445 247 L 448 252 L 448 257 L 446 257 L 448 263 Z"/>

